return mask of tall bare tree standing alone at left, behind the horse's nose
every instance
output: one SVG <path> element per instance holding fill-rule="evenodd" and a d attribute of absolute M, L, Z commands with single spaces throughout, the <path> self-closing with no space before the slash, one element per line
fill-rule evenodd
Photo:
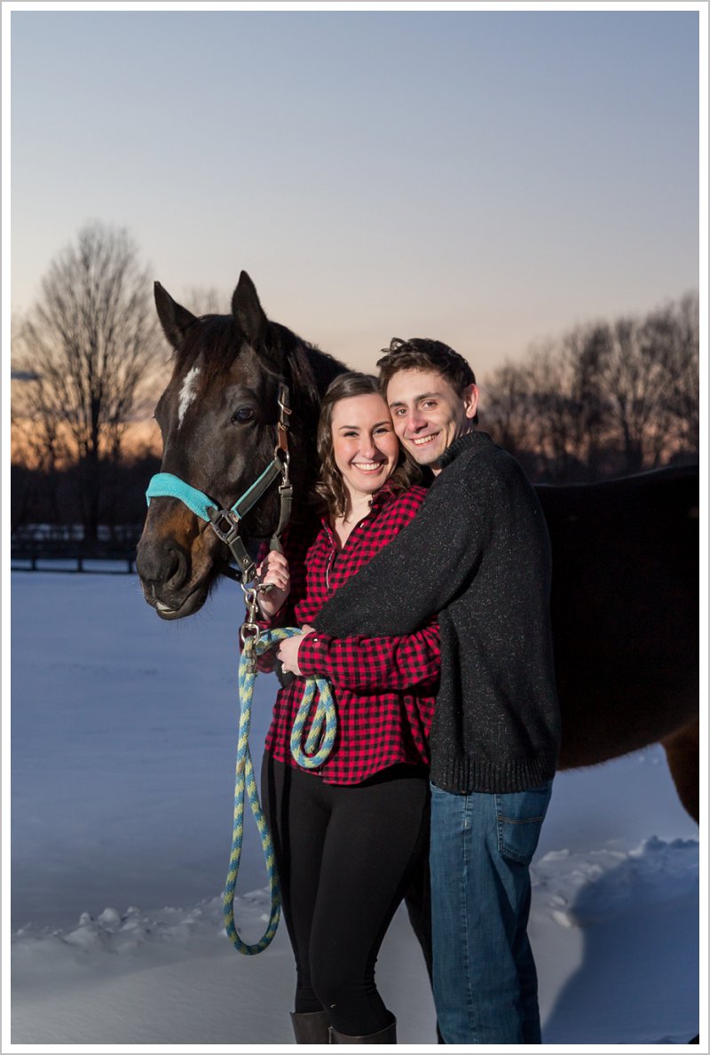
<path fill-rule="evenodd" d="M 18 417 L 42 452 L 79 467 L 79 519 L 95 538 L 101 484 L 155 363 L 152 282 L 124 230 L 91 224 L 50 265 L 17 341 Z"/>

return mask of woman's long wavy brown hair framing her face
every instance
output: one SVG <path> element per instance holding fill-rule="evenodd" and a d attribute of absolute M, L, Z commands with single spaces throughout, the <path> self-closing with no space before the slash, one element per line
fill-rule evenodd
<path fill-rule="evenodd" d="M 357 370 L 350 370 L 347 373 L 340 373 L 331 381 L 323 397 L 321 417 L 315 434 L 315 445 L 321 459 L 321 476 L 315 484 L 315 494 L 331 517 L 342 517 L 347 512 L 347 491 L 333 456 L 333 407 L 341 400 L 351 399 L 353 396 L 370 395 L 382 396 L 378 379 L 371 373 L 359 373 Z M 406 491 L 415 483 L 421 483 L 422 480 L 423 474 L 419 465 L 400 445 L 400 456 L 395 472 L 386 481 L 386 485 L 398 493 Z"/>

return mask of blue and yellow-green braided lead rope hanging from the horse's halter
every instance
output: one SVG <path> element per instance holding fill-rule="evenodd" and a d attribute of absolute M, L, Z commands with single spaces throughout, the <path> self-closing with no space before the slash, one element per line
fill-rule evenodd
<path fill-rule="evenodd" d="M 239 659 L 239 732 L 236 748 L 236 768 L 234 779 L 234 821 L 232 827 L 232 848 L 229 857 L 229 871 L 224 895 L 224 922 L 227 937 L 237 952 L 245 956 L 255 956 L 270 945 L 281 918 L 281 887 L 276 872 L 276 862 L 273 842 L 269 832 L 264 811 L 258 801 L 254 766 L 249 750 L 249 731 L 251 727 L 251 702 L 256 680 L 256 657 L 266 652 L 276 641 L 301 633 L 295 627 L 279 630 L 261 631 L 254 621 L 256 612 L 256 590 L 246 590 L 249 605 L 248 620 L 242 627 L 243 651 Z M 312 709 L 315 691 L 319 703 L 313 721 L 306 737 L 305 749 L 302 747 L 303 729 Z M 300 766 L 314 769 L 323 765 L 333 745 L 337 731 L 335 706 L 329 683 L 322 677 L 306 678 L 303 699 L 293 723 L 291 732 L 291 753 Z M 234 890 L 242 858 L 242 840 L 244 837 L 244 798 L 245 788 L 249 797 L 251 812 L 262 840 L 264 861 L 269 877 L 271 908 L 266 929 L 258 941 L 253 944 L 245 942 L 239 937 L 234 922 Z"/>

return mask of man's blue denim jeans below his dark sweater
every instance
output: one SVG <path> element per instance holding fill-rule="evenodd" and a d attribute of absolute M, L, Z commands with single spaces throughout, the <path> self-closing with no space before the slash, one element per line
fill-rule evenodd
<path fill-rule="evenodd" d="M 434 999 L 447 1044 L 539 1044 L 530 863 L 552 781 L 507 794 L 431 786 Z"/>

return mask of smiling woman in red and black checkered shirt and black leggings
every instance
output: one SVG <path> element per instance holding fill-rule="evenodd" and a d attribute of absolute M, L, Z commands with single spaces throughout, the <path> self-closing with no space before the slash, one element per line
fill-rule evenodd
<path fill-rule="evenodd" d="M 398 904 L 424 876 L 439 630 L 430 620 L 399 639 L 342 642 L 309 634 L 308 624 L 409 523 L 426 491 L 410 485 L 421 473 L 369 375 L 331 382 L 318 450 L 321 521 L 289 532 L 284 554 L 270 552 L 258 569 L 271 588 L 258 594 L 268 629 L 302 628 L 279 646 L 294 677 L 276 698 L 263 800 L 296 962 L 296 1042 L 396 1043 L 375 963 Z M 294 755 L 291 737 L 311 663 L 325 664 L 339 715 L 331 752 L 316 765 Z"/>

